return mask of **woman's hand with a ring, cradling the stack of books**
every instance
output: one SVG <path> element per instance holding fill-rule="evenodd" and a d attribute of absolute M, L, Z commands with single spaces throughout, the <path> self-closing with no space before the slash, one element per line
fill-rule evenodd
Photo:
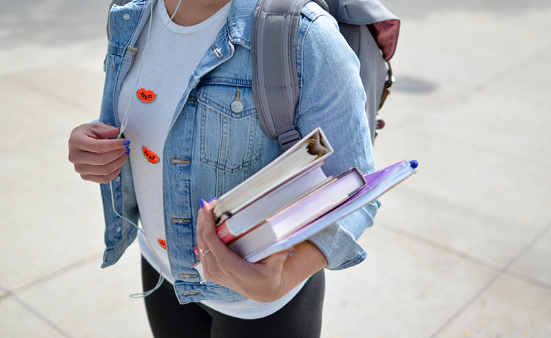
<path fill-rule="evenodd" d="M 285 278 L 287 258 L 294 249 L 273 254 L 260 262 L 247 262 L 228 249 L 218 238 L 210 205 L 207 202 L 203 205 L 197 219 L 197 242 L 203 252 L 208 250 L 206 254 L 201 255 L 205 279 L 226 286 L 257 302 L 278 300 L 302 282 L 297 282 L 294 278 Z"/>

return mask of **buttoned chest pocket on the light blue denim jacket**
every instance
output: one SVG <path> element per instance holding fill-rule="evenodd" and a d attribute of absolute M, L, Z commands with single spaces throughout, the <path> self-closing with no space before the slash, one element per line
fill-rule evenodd
<path fill-rule="evenodd" d="M 211 78 L 197 95 L 200 160 L 230 174 L 256 164 L 266 136 L 245 80 Z M 245 84 L 245 85 L 240 85 Z"/>

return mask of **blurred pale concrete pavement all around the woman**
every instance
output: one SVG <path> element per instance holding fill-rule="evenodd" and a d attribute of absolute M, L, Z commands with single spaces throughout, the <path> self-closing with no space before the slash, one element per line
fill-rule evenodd
<path fill-rule="evenodd" d="M 328 271 L 324 338 L 551 337 L 551 2 L 384 0 L 402 19 L 368 259 Z M 100 269 L 95 120 L 110 1 L 1 0 L 0 336 L 152 337 L 139 249 Z"/>

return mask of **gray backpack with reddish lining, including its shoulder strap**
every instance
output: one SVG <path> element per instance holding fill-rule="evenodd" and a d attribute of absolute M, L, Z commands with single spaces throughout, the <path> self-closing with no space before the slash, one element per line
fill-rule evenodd
<path fill-rule="evenodd" d="M 251 57 L 256 109 L 264 133 L 278 139 L 284 150 L 300 139 L 294 123 L 298 102 L 295 42 L 300 11 L 309 1 L 312 0 L 259 0 L 254 13 Z M 394 82 L 389 60 L 396 49 L 400 21 L 378 0 L 314 1 L 335 17 L 341 34 L 360 59 L 373 142 L 377 129 L 384 126 L 377 112 Z M 113 0 L 111 5 L 129 2 Z"/>

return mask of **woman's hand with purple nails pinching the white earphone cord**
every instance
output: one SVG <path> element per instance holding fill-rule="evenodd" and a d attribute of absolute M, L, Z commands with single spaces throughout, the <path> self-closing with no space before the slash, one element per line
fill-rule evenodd
<path fill-rule="evenodd" d="M 69 161 L 85 181 L 109 183 L 126 161 L 130 149 L 127 139 L 116 139 L 120 127 L 101 122 L 82 124 L 69 137 Z"/>

